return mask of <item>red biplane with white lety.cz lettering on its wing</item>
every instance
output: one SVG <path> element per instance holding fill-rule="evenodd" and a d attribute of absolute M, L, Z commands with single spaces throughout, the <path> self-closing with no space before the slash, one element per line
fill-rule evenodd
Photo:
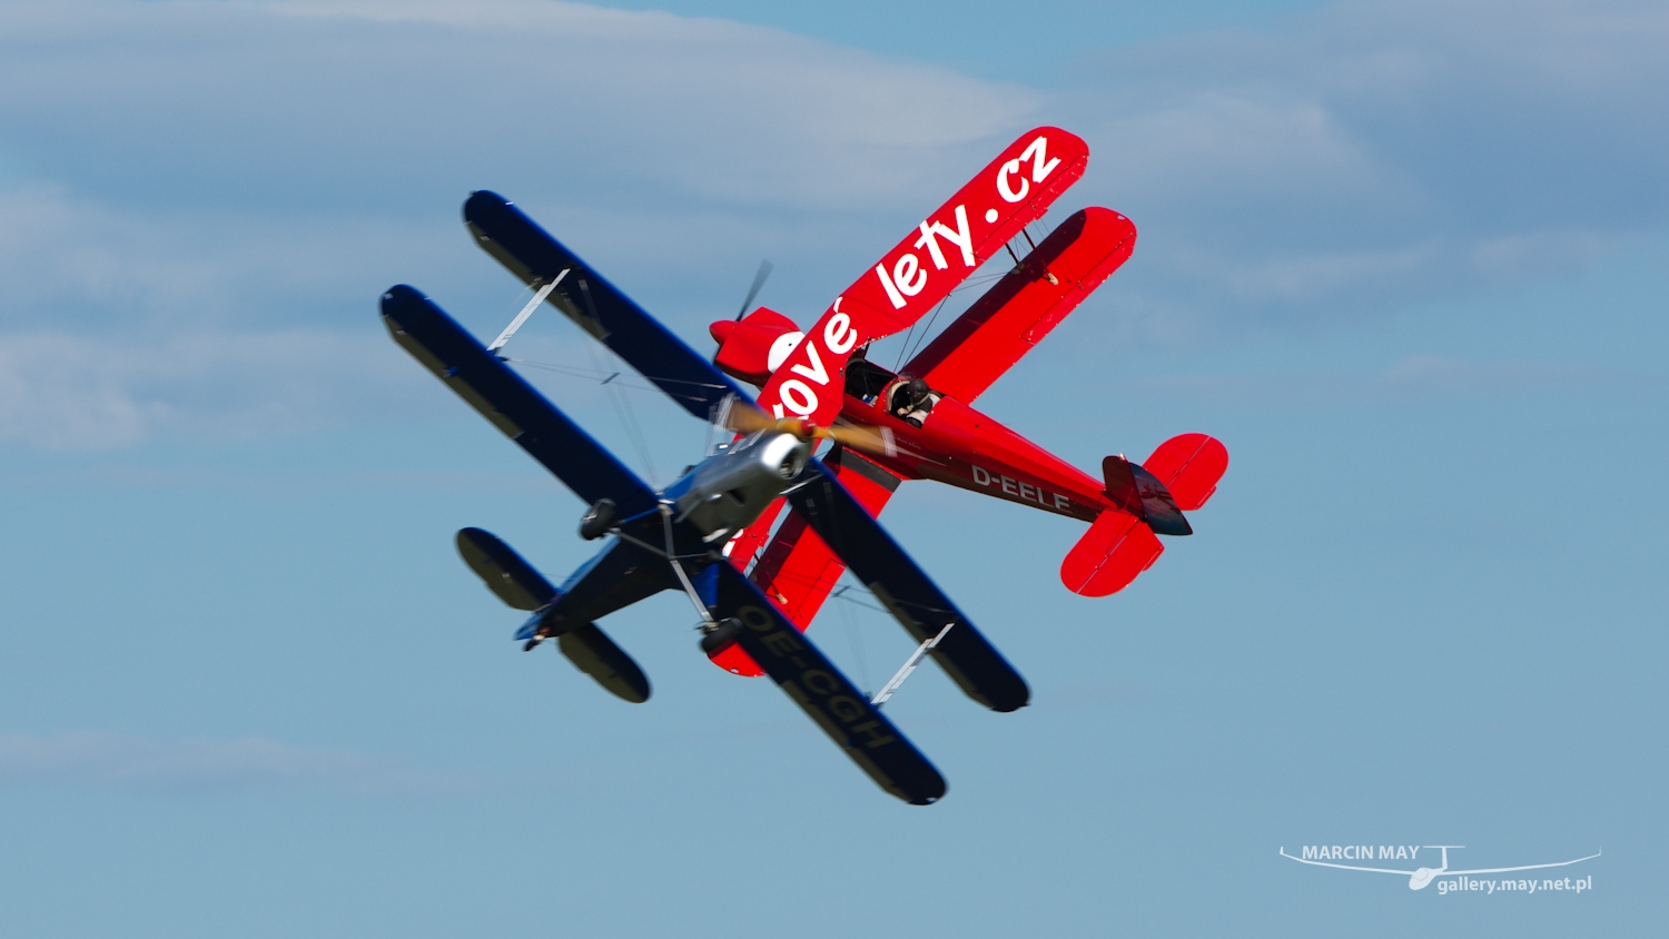
<path fill-rule="evenodd" d="M 865 272 L 809 330 L 759 307 L 734 322 L 714 322 L 709 332 L 719 344 L 714 364 L 759 385 L 759 404 L 774 417 L 881 432 L 883 445 L 840 447 L 824 460 L 871 514 L 881 512 L 900 482 L 936 479 L 1090 522 L 1060 577 L 1075 594 L 1103 597 L 1158 560 L 1165 547 L 1157 534 L 1192 534 L 1182 512 L 1212 497 L 1228 452 L 1205 434 L 1183 434 L 1142 464 L 1107 457 L 1097 479 L 971 407 L 1135 247 L 1135 225 L 1110 208 L 1075 212 L 1035 247 L 1025 233 L 1083 175 L 1088 157 L 1085 142 L 1065 130 L 1030 130 Z M 981 264 L 1011 254 L 1010 242 L 1021 235 L 1030 254 L 1013 255 L 1015 267 L 900 372 L 865 357 L 871 342 L 911 329 Z M 778 500 L 726 554 L 738 569 L 753 564 L 749 579 L 806 629 L 845 564 L 804 519 L 791 515 L 778 525 L 781 509 Z M 761 674 L 736 647 L 713 660 L 736 674 Z"/>

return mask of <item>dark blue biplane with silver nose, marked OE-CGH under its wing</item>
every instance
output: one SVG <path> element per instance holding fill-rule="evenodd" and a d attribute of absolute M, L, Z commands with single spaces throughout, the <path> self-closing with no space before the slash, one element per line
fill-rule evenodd
<path fill-rule="evenodd" d="M 683 590 L 701 615 L 703 650 L 738 644 L 885 791 L 918 806 L 938 801 L 945 781 L 933 764 L 723 555 L 733 535 L 786 497 L 921 644 L 876 700 L 931 655 L 986 707 L 1026 704 L 1020 674 L 813 455 L 818 437 L 831 434 L 759 414 L 708 359 L 502 197 L 471 195 L 464 220 L 481 247 L 536 292 L 512 329 L 549 302 L 689 414 L 738 430 L 656 492 L 509 369 L 497 354 L 506 337 L 486 347 L 412 287 L 384 294 L 382 319 L 396 342 L 589 505 L 582 537 L 608 539 L 552 587 L 497 537 L 457 532 L 459 552 L 487 587 L 532 612 L 516 639 L 526 649 L 556 640 L 609 692 L 643 702 L 648 679 L 596 620 L 661 590 Z M 826 462 L 841 454 L 836 442 Z"/>

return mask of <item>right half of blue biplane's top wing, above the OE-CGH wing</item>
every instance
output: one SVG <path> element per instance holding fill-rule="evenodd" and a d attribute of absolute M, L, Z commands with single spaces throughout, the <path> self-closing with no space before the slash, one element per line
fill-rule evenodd
<path fill-rule="evenodd" d="M 846 562 L 846 567 L 898 617 L 916 642 L 955 627 L 933 647 L 933 660 L 961 690 L 991 711 L 1018 711 L 1031 689 L 968 617 L 950 602 L 905 549 L 834 479 L 823 464 L 806 465 L 809 482 L 788 492 L 806 524 Z"/>

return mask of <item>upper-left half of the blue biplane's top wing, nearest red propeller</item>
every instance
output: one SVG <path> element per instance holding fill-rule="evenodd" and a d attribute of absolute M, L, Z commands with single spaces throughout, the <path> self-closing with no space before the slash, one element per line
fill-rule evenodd
<path fill-rule="evenodd" d="M 711 420 L 728 395 L 753 400 L 502 195 L 471 193 L 464 222 L 476 242 L 527 285 L 561 277 L 547 300 L 689 414 Z"/>

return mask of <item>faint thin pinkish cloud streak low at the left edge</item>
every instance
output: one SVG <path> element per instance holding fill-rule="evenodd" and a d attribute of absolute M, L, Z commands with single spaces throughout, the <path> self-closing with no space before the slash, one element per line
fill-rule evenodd
<path fill-rule="evenodd" d="M 78 732 L 0 734 L 0 786 L 92 787 L 142 796 L 310 791 L 345 796 L 461 792 L 469 781 L 391 761 L 275 741 L 159 741 Z"/>

